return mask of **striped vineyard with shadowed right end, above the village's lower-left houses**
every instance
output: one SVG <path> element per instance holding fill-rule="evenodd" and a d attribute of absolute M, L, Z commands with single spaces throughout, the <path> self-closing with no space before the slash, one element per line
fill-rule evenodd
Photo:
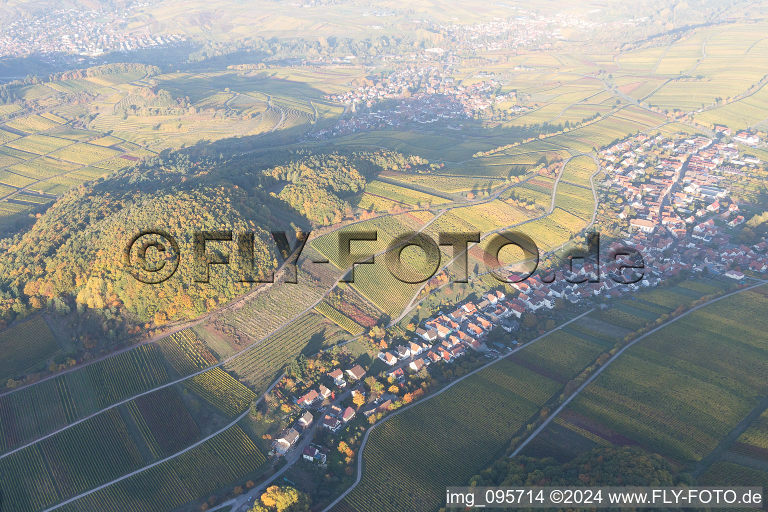
<path fill-rule="evenodd" d="M 329 320 L 308 313 L 238 355 L 227 368 L 261 391 L 296 356 L 316 354 L 346 337 L 346 332 Z"/>

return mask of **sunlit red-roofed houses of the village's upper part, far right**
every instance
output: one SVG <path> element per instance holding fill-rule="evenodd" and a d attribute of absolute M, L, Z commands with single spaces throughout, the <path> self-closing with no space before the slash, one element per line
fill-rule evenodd
<path fill-rule="evenodd" d="M 719 133 L 728 134 L 730 130 L 721 129 Z M 759 140 L 746 132 L 739 136 L 744 140 Z M 641 181 L 649 174 L 646 154 L 654 146 L 671 154 L 661 157 L 653 175 Z M 720 200 L 728 194 L 727 187 L 721 186 L 723 173 L 741 173 L 734 166 L 760 164 L 755 157 L 740 160 L 736 144 L 715 142 L 706 137 L 640 134 L 601 151 L 600 156 L 609 176 L 607 184 L 626 198 L 637 213 L 629 220 L 633 230 L 650 235 L 661 229 L 674 238 L 683 239 L 693 226 L 694 237 L 706 242 L 711 238 L 706 233 L 707 221 L 702 221 L 703 217 L 721 213 L 721 218 L 730 226 L 744 222 L 735 204 L 721 212 L 726 207 Z M 619 217 L 624 219 L 626 214 L 622 212 Z"/>

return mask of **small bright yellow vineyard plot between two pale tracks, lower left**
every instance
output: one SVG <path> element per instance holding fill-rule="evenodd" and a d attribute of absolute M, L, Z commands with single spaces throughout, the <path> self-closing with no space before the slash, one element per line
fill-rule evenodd
<path fill-rule="evenodd" d="M 232 417 L 245 411 L 250 402 L 256 398 L 253 391 L 237 382 L 237 379 L 218 366 L 187 378 L 184 386 L 225 415 Z"/>

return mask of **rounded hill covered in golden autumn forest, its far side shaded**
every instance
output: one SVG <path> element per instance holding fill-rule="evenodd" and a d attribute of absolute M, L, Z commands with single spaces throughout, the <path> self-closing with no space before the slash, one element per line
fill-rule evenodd
<path fill-rule="evenodd" d="M 90 335 L 108 344 L 124 329 L 200 315 L 250 286 L 232 279 L 195 283 L 194 232 L 252 231 L 257 269 L 267 273 L 278 263 L 270 230 L 353 216 L 347 199 L 382 169 L 429 171 L 419 157 L 383 150 L 203 153 L 166 150 L 71 190 L 27 233 L 0 241 L 2 322 L 48 307 L 90 319 Z M 137 282 L 121 263 L 131 236 L 147 229 L 170 233 L 182 253 L 177 273 L 154 286 Z"/>

